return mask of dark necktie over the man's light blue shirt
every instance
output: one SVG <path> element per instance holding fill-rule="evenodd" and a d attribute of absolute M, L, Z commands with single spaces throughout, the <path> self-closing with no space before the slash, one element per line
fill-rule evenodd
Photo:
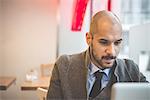
<path fill-rule="evenodd" d="M 103 76 L 103 72 L 97 71 L 94 75 L 96 79 L 89 95 L 92 98 L 96 97 L 101 91 L 101 78 Z"/>

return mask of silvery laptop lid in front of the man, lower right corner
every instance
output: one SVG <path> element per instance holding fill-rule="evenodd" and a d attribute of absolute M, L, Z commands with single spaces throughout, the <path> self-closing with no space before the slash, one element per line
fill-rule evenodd
<path fill-rule="evenodd" d="M 115 83 L 111 100 L 150 100 L 150 83 Z"/>

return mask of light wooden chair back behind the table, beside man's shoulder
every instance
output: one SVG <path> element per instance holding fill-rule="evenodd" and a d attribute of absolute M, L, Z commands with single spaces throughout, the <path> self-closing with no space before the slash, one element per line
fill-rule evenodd
<path fill-rule="evenodd" d="M 52 70 L 53 70 L 54 64 L 41 64 L 40 69 L 41 69 L 41 76 L 51 76 Z"/>

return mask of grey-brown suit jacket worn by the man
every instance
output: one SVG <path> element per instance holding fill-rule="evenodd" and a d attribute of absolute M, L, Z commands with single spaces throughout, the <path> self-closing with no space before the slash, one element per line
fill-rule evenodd
<path fill-rule="evenodd" d="M 89 63 L 88 50 L 80 54 L 61 56 L 52 72 L 47 100 L 87 100 Z M 146 82 L 133 61 L 116 59 L 116 63 L 114 75 L 117 82 Z"/>

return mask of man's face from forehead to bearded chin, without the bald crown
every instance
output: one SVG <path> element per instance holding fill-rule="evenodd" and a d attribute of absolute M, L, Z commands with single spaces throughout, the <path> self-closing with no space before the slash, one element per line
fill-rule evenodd
<path fill-rule="evenodd" d="M 90 48 L 94 60 L 102 67 L 112 67 L 119 54 L 122 42 L 122 30 L 118 24 L 98 25 L 98 32 L 90 37 Z"/>

